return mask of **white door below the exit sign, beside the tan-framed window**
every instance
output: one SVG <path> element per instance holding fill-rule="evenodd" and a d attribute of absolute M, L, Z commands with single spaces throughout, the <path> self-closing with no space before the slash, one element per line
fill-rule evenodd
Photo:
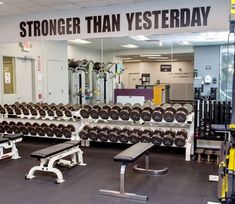
<path fill-rule="evenodd" d="M 16 101 L 33 102 L 33 60 L 16 58 Z"/>

